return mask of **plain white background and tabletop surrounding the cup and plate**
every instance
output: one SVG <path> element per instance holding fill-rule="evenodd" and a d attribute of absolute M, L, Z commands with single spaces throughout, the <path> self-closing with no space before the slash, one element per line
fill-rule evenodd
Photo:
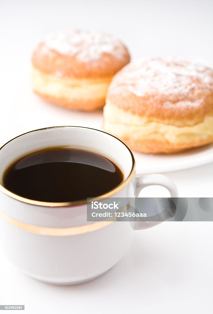
<path fill-rule="evenodd" d="M 1 0 L 0 144 L 10 139 L 9 107 L 31 52 L 49 32 L 103 30 L 122 39 L 132 59 L 178 55 L 213 66 L 212 16 L 211 0 Z M 181 197 L 212 197 L 213 163 L 167 175 Z M 143 195 L 158 197 L 162 191 L 153 187 Z M 131 249 L 114 268 L 70 287 L 25 276 L 0 251 L 0 304 L 25 304 L 26 313 L 212 313 L 212 227 L 211 222 L 163 223 L 135 231 Z"/>

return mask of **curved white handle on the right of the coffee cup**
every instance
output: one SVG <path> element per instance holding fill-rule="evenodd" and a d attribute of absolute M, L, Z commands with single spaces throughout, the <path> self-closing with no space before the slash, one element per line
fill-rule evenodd
<path fill-rule="evenodd" d="M 150 174 L 137 177 L 136 197 L 138 197 L 139 193 L 144 187 L 148 187 L 150 185 L 160 185 L 162 187 L 165 187 L 169 191 L 172 198 L 178 198 L 178 189 L 174 182 L 169 179 L 169 177 L 161 174 Z M 135 223 L 134 230 L 151 228 L 160 223 L 160 221 L 139 221 Z"/>

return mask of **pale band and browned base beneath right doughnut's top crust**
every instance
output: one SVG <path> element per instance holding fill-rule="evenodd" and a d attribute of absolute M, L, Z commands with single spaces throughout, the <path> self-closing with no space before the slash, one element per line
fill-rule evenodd
<path fill-rule="evenodd" d="M 202 122 L 192 122 L 176 126 L 146 119 L 109 102 L 104 107 L 104 130 L 143 153 L 173 153 L 212 143 L 213 111 Z"/>

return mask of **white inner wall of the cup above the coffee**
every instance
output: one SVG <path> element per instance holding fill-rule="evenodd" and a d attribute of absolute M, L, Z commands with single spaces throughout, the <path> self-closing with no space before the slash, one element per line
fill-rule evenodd
<path fill-rule="evenodd" d="M 25 154 L 46 147 L 70 145 L 107 154 L 120 165 L 124 180 L 132 171 L 134 157 L 131 151 L 112 135 L 84 127 L 51 127 L 20 135 L 0 149 L 0 184 L 3 185 L 3 173 L 7 167 Z"/>

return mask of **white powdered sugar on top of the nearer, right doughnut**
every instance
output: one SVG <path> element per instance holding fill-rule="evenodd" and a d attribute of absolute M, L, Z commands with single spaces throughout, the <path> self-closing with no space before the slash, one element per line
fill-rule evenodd
<path fill-rule="evenodd" d="M 139 97 L 165 96 L 164 104 L 200 106 L 200 94 L 213 92 L 213 70 L 176 58 L 153 58 L 127 65 L 113 79 L 110 90 L 127 90 Z"/>

